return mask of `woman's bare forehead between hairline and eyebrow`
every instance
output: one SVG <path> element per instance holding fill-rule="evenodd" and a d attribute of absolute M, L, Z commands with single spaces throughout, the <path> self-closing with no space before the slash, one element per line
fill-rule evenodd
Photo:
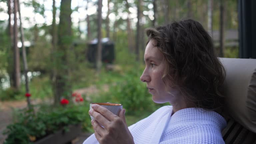
<path fill-rule="evenodd" d="M 150 40 L 148 42 L 146 49 L 145 49 L 145 53 L 144 53 L 145 61 L 147 61 L 148 59 L 163 60 L 163 54 L 154 45 L 155 45 L 154 40 Z"/>

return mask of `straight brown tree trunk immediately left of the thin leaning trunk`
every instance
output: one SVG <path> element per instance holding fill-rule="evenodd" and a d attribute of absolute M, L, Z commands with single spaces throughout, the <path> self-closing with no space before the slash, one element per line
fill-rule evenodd
<path fill-rule="evenodd" d="M 18 28 L 17 28 L 17 0 L 13 0 L 14 3 L 14 25 L 13 25 L 13 47 L 14 47 L 14 72 L 15 72 L 15 89 L 20 88 L 20 51 L 18 44 Z"/>

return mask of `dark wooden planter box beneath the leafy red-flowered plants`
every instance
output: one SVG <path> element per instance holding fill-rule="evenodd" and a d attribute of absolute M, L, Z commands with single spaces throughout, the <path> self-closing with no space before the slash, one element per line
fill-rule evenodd
<path fill-rule="evenodd" d="M 69 126 L 69 131 L 59 130 L 57 133 L 50 134 L 34 144 L 67 144 L 71 143 L 82 132 L 81 124 Z"/>

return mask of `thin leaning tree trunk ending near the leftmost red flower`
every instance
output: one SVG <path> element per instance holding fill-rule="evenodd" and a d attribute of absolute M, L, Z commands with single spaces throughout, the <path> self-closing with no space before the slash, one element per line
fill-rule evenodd
<path fill-rule="evenodd" d="M 26 49 L 24 46 L 24 31 L 22 27 L 22 21 L 21 21 L 21 14 L 20 14 L 20 2 L 17 0 L 18 4 L 18 12 L 19 12 L 19 18 L 20 18 L 20 37 L 21 37 L 21 44 L 22 44 L 22 57 L 23 57 L 23 65 L 24 65 L 24 76 L 25 76 L 25 84 L 26 84 L 26 93 L 29 93 L 29 86 L 28 86 L 28 64 L 27 64 L 27 54 L 26 54 Z M 28 107 L 31 109 L 31 102 L 30 102 L 30 97 L 27 97 L 27 104 Z"/>

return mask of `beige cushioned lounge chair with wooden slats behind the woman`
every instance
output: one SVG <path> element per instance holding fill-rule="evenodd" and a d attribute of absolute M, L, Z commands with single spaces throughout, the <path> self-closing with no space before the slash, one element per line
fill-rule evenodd
<path fill-rule="evenodd" d="M 220 58 L 226 69 L 226 144 L 256 144 L 256 59 Z"/>

